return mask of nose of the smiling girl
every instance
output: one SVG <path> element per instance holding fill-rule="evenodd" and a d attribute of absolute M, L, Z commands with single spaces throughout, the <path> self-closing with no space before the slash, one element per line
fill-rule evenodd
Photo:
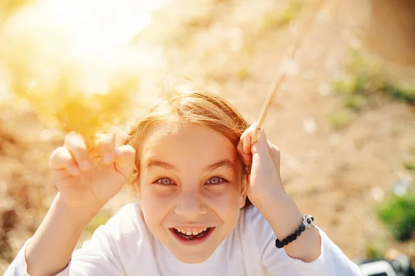
<path fill-rule="evenodd" d="M 202 196 L 196 190 L 189 190 L 178 198 L 175 213 L 187 219 L 192 219 L 208 212 Z"/>

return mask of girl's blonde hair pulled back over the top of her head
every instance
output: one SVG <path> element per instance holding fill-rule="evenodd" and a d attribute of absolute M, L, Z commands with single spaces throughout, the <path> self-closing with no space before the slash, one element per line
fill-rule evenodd
<path fill-rule="evenodd" d="M 150 108 L 147 115 L 129 126 L 129 131 L 124 137 L 123 144 L 132 146 L 138 152 L 136 156 L 138 168 L 140 168 L 139 147 L 151 126 L 171 121 L 201 124 L 220 132 L 234 146 L 237 146 L 243 131 L 249 126 L 248 121 L 228 101 L 209 92 L 196 91 L 164 99 Z M 139 169 L 133 173 L 129 180 L 130 184 L 140 177 L 139 173 Z M 249 204 L 247 198 L 246 206 Z"/>

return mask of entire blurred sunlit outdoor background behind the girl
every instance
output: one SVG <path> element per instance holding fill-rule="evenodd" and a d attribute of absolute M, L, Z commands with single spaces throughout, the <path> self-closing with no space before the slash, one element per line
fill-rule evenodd
<path fill-rule="evenodd" d="M 413 14 L 412 0 L 0 0 L 0 273 L 57 193 L 48 157 L 66 132 L 142 114 L 165 72 L 255 121 L 299 31 L 264 126 L 287 192 L 351 259 L 415 262 Z M 133 200 L 114 197 L 82 240 Z"/>

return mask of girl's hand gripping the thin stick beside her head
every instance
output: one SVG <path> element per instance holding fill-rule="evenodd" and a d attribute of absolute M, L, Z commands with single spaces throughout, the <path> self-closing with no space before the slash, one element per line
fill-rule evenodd
<path fill-rule="evenodd" d="M 237 151 L 248 168 L 250 176 L 247 195 L 252 204 L 259 207 L 264 200 L 285 193 L 280 176 L 279 148 L 271 144 L 263 128 L 257 142 L 252 145 L 252 135 L 257 123 L 252 124 L 241 135 Z"/>

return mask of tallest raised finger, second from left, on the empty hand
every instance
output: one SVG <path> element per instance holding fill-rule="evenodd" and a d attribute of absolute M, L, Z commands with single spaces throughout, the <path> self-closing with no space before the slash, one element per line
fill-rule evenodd
<path fill-rule="evenodd" d="M 91 161 L 86 150 L 86 144 L 80 135 L 74 131 L 69 132 L 65 137 L 64 147 L 71 153 L 80 170 L 86 171 L 91 169 Z"/>

